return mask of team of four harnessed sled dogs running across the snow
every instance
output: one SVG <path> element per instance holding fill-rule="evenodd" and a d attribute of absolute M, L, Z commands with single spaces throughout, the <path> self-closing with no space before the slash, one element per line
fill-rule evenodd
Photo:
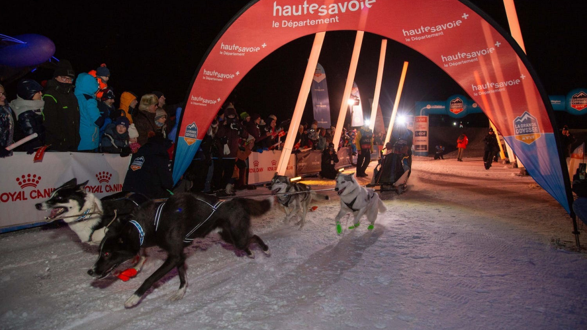
<path fill-rule="evenodd" d="M 264 200 L 220 200 L 206 194 L 178 193 L 167 200 L 149 200 L 141 194 L 123 192 L 99 199 L 85 191 L 86 184 L 87 181 L 77 184 L 77 180 L 72 179 L 35 207 L 50 211 L 46 217 L 48 221 L 65 221 L 82 242 L 100 244 L 97 261 L 87 271 L 92 277 L 104 278 L 123 262 L 136 258 L 132 268 L 117 275 L 126 281 L 140 271 L 146 260 L 145 248 L 157 246 L 167 252 L 163 264 L 124 302 L 127 308 L 139 304 L 144 293 L 173 268 L 177 268 L 180 287 L 170 299 L 183 298 L 187 288 L 184 248 L 195 238 L 214 232 L 250 258 L 255 257 L 250 250 L 252 243 L 256 243 L 266 255 L 270 254 L 264 241 L 251 233 L 251 217 L 271 210 L 273 196 Z M 284 207 L 285 221 L 299 215 L 296 225 L 300 230 L 305 225 L 312 199 L 329 199 L 324 194 L 315 193 L 306 184 L 292 183 L 288 177 L 277 174 L 270 189 Z M 335 217 L 338 234 L 342 232 L 340 219 L 346 214 L 354 216 L 349 229 L 359 226 L 363 215 L 370 223 L 368 229 L 373 229 L 377 213 L 386 211 L 377 193 L 360 186 L 353 174 L 338 174 L 335 191 L 340 197 L 340 211 Z"/>

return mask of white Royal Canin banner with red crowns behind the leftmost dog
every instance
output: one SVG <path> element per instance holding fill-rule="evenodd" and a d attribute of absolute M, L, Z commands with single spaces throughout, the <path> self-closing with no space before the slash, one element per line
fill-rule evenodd
<path fill-rule="evenodd" d="M 43 161 L 33 163 L 33 155 L 15 152 L 0 160 L 0 228 L 44 224 L 49 213 L 36 210 L 35 204 L 73 178 L 77 183 L 89 180 L 86 191 L 99 198 L 122 191 L 129 161 L 119 154 L 48 152 Z"/>

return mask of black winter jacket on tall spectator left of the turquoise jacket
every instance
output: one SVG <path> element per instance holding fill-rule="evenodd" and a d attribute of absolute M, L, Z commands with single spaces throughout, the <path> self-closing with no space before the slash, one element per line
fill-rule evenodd
<path fill-rule="evenodd" d="M 76 151 L 79 145 L 79 105 L 73 85 L 49 80 L 43 89 L 43 126 L 50 150 Z"/>

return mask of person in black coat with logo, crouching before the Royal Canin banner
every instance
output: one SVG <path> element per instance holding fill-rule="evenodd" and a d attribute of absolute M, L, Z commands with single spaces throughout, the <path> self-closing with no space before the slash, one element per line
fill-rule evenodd
<path fill-rule="evenodd" d="M 173 177 L 169 168 L 171 140 L 156 135 L 133 154 L 129 169 L 126 172 L 123 191 L 141 193 L 149 198 L 166 198 L 167 190 L 173 188 Z"/>

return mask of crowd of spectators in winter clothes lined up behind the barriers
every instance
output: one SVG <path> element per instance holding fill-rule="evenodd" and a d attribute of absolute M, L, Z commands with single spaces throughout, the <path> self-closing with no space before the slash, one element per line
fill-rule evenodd
<path fill-rule="evenodd" d="M 110 78 L 105 64 L 76 75 L 70 62 L 64 59 L 58 62 L 49 80 L 19 81 L 16 98 L 11 102 L 7 102 L 5 89 L 0 85 L 0 157 L 11 156 L 12 152 L 5 147 L 37 133 L 35 139 L 15 150 L 32 154 L 39 147 L 48 146 L 47 151 L 117 153 L 122 157 L 132 154 L 133 163 L 138 154 L 161 156 L 161 148 L 165 146 L 171 159 L 176 118 L 183 107 L 167 106 L 166 97 L 160 91 L 139 97 L 128 90 L 120 94 L 119 106 L 115 106 L 117 93 L 109 86 Z M 289 122 L 289 119 L 280 122 L 275 115 L 261 117 L 258 113 L 237 112 L 232 103 L 225 104 L 208 128 L 188 169 L 187 176 L 194 182 L 192 189 L 218 196 L 230 196 L 235 189 L 253 189 L 254 186 L 247 184 L 249 154 L 281 150 Z M 335 175 L 332 170 L 338 162 L 336 144 L 337 150 L 350 146 L 356 154 L 356 129 L 343 129 L 338 143 L 333 142 L 333 134 L 334 127 L 319 127 L 314 121 L 309 126 L 301 124 L 295 137 L 294 152 L 324 151 L 327 167 L 332 165 L 332 169 L 323 169 L 324 177 Z M 155 137 L 157 140 L 153 142 L 157 143 L 150 143 Z M 168 143 L 163 143 L 164 140 Z M 142 152 L 141 146 L 145 146 Z M 139 179 L 129 180 L 138 182 Z M 165 181 L 168 186 L 169 180 Z M 125 185 L 133 186 L 126 181 Z"/>

